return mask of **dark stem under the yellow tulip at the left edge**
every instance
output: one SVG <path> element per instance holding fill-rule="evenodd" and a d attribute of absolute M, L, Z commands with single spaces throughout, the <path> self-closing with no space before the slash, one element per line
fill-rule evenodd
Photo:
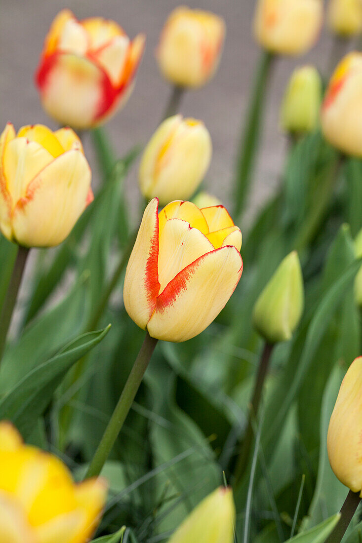
<path fill-rule="evenodd" d="M 20 246 L 18 247 L 13 273 L 11 274 L 7 294 L 5 295 L 4 304 L 0 314 L 0 361 L 4 353 L 11 317 L 16 304 L 17 293 L 23 277 L 28 254 L 29 249 Z"/>

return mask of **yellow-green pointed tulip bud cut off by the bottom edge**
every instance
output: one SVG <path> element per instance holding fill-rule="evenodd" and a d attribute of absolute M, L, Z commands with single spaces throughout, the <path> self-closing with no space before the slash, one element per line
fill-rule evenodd
<path fill-rule="evenodd" d="M 234 522 L 233 492 L 221 487 L 198 504 L 168 543 L 233 543 Z"/>

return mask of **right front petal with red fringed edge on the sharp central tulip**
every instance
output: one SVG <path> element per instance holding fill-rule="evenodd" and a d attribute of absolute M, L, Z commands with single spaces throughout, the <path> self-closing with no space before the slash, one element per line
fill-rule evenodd
<path fill-rule="evenodd" d="M 235 247 L 208 252 L 184 268 L 158 296 L 147 323 L 158 339 L 182 342 L 201 333 L 220 313 L 242 273 Z"/>

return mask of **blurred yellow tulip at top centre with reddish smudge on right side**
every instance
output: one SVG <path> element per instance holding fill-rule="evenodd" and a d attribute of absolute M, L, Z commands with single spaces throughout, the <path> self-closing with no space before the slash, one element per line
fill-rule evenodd
<path fill-rule="evenodd" d="M 224 41 L 225 23 L 209 11 L 179 7 L 160 36 L 157 60 L 174 85 L 200 87 L 214 75 Z"/>

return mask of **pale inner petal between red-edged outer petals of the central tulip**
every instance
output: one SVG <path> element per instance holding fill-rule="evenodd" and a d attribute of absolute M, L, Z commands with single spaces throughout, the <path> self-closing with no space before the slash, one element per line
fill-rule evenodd
<path fill-rule="evenodd" d="M 167 220 L 159 238 L 158 273 L 160 293 L 179 271 L 199 256 L 213 251 L 213 245 L 196 228 L 180 219 Z"/>

